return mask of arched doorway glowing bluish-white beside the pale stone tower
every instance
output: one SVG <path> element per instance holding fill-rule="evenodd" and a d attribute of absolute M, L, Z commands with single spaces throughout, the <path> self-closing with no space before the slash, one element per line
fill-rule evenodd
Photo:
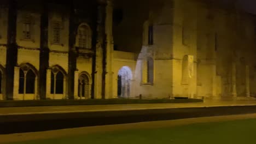
<path fill-rule="evenodd" d="M 118 97 L 129 98 L 131 91 L 132 71 L 129 67 L 122 67 L 118 71 Z"/>

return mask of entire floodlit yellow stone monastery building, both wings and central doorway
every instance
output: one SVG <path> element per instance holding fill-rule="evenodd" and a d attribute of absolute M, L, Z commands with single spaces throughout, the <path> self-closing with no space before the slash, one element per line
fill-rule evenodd
<path fill-rule="evenodd" d="M 235 2 L 0 2 L 0 99 L 256 96 L 255 16 Z"/>

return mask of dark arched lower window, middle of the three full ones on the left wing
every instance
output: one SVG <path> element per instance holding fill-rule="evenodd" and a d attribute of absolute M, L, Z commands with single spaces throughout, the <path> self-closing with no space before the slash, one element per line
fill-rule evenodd
<path fill-rule="evenodd" d="M 58 67 L 51 70 L 51 94 L 63 94 L 64 74 Z"/>

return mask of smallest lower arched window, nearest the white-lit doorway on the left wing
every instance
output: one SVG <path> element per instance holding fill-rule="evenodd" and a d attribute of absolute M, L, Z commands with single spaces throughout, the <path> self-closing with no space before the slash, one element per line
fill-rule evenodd
<path fill-rule="evenodd" d="M 89 77 L 86 74 L 82 74 L 78 79 L 78 97 L 89 98 L 90 97 L 90 83 Z"/>

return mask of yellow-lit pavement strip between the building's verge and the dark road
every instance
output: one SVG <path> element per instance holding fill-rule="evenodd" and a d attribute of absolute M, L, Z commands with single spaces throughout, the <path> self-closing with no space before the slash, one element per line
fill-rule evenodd
<path fill-rule="evenodd" d="M 193 107 L 219 107 L 219 106 L 249 106 L 256 105 L 256 100 L 250 101 L 219 101 L 211 100 L 205 103 L 181 104 L 128 104 L 128 105 L 85 105 L 85 106 L 42 106 L 42 107 L 3 107 L 0 116 L 7 115 L 32 115 L 44 113 L 73 113 L 73 112 L 98 112 L 98 111 L 129 111 L 150 109 L 178 109 Z"/>

